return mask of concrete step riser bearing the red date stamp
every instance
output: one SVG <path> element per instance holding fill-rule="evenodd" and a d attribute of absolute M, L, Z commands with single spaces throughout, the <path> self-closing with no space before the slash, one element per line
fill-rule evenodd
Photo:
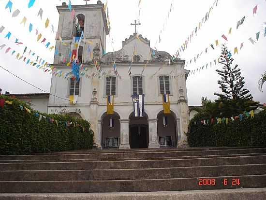
<path fill-rule="evenodd" d="M 199 178 L 214 179 L 214 185 L 199 185 Z M 227 179 L 227 185 L 224 185 Z M 233 185 L 239 179 L 239 185 Z M 178 179 L 120 180 L 120 181 L 44 181 L 0 182 L 0 193 L 98 193 L 152 192 L 266 187 L 266 175 L 198 177 Z"/>

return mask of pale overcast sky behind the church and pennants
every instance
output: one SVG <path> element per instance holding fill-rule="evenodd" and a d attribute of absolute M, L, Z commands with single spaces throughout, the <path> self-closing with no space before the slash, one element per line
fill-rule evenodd
<path fill-rule="evenodd" d="M 62 1 L 36 0 L 34 6 L 28 8 L 29 0 L 12 0 L 12 13 L 16 9 L 20 10 L 20 14 L 17 17 L 12 17 L 12 13 L 5 9 L 8 0 L 0 0 L 0 27 L 5 27 L 4 31 L 0 33 L 0 46 L 2 44 L 7 45 L 3 50 L 0 50 L 0 66 L 5 67 L 19 77 L 48 92 L 50 91 L 50 74 L 15 60 L 17 52 L 21 54 L 25 48 L 25 46 L 15 45 L 15 37 L 28 47 L 25 55 L 28 54 L 29 50 L 32 50 L 48 63 L 53 63 L 54 52 L 47 50 L 43 44 L 37 42 L 35 29 L 37 28 L 38 32 L 44 35 L 46 41 L 50 41 L 52 45 L 55 44 L 55 33 L 59 20 L 56 5 L 61 5 Z M 168 18 L 172 1 L 172 12 Z M 97 0 L 89 1 L 89 3 L 96 2 Z M 105 3 L 105 0 L 102 2 Z M 134 27 L 130 23 L 133 23 L 134 19 L 138 19 L 138 2 L 139 0 L 108 0 L 111 35 L 106 38 L 106 52 L 112 51 L 111 37 L 114 39 L 114 49 L 119 50 L 122 48 L 122 41 L 133 34 Z M 214 0 L 142 0 L 140 5 L 141 26 L 138 27 L 138 32 L 143 37 L 147 37 L 150 40 L 151 48 L 154 48 L 167 18 L 167 25 L 161 34 L 162 41 L 157 43 L 156 48 L 174 55 L 198 23 L 201 22 L 206 12 L 213 5 L 213 2 Z M 72 0 L 72 4 L 84 4 L 84 1 Z M 253 8 L 257 4 L 257 15 L 253 16 Z M 42 20 L 40 17 L 37 17 L 41 7 L 44 10 Z M 192 65 L 189 64 L 186 67 L 187 69 L 193 70 L 204 65 L 206 66 L 208 63 L 207 69 L 205 67 L 200 73 L 195 73 L 195 75 L 190 76 L 187 80 L 189 105 L 200 105 L 201 97 L 214 100 L 216 96 L 213 93 L 220 92 L 217 84 L 219 76 L 215 69 L 222 66 L 214 66 L 213 64 L 214 59 L 217 59 L 221 53 L 221 46 L 216 48 L 215 45 L 215 40 L 217 39 L 220 45 L 225 42 L 232 51 L 234 51 L 235 47 L 238 48 L 238 54 L 233 55 L 235 59 L 233 64 L 239 65 L 242 76 L 245 77 L 245 87 L 251 91 L 254 100 L 261 103 L 266 102 L 266 93 L 261 93 L 257 86 L 261 74 L 266 71 L 266 37 L 264 37 L 263 28 L 263 24 L 266 23 L 265 11 L 266 0 L 219 0 L 218 6 L 215 6 L 211 11 L 208 21 L 203 24 L 197 36 L 194 35 L 191 43 L 188 45 L 188 49 L 181 54 L 181 59 L 190 61 L 190 59 L 193 60 L 194 56 L 197 57 L 197 54 L 204 51 L 200 59 L 196 63 L 192 61 Z M 24 16 L 27 17 L 25 27 L 20 24 Z M 244 16 L 244 23 L 236 30 L 237 21 Z M 50 19 L 50 24 L 54 25 L 55 33 L 51 32 L 51 26 L 45 29 L 44 23 L 47 17 Z M 29 32 L 30 23 L 33 24 L 33 31 L 31 33 Z M 228 35 L 230 27 L 232 27 L 232 33 Z M 4 37 L 9 31 L 12 33 L 12 36 L 7 40 Z M 257 41 L 256 33 L 259 31 L 261 33 Z M 227 36 L 228 42 L 222 39 L 222 34 Z M 248 40 L 250 37 L 257 41 L 255 45 L 252 45 Z M 244 47 L 240 50 L 242 42 L 244 42 Z M 214 45 L 215 50 L 211 49 L 211 44 Z M 12 49 L 5 54 L 7 47 Z M 206 48 L 208 48 L 207 54 L 205 53 Z M 11 56 L 13 50 L 16 50 L 16 53 Z M 232 53 L 234 54 L 234 52 Z M 209 67 L 210 62 L 212 62 L 211 68 Z M 41 92 L 2 69 L 0 69 L 0 77 L 0 88 L 3 89 L 3 92 Z M 264 90 L 266 91 L 266 85 Z"/>

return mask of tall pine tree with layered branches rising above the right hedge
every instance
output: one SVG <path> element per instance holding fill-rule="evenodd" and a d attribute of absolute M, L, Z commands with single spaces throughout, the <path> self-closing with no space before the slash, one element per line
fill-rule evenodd
<path fill-rule="evenodd" d="M 221 76 L 222 80 L 218 80 L 218 84 L 222 89 L 222 94 L 214 93 L 222 100 L 252 100 L 250 91 L 244 87 L 244 77 L 241 76 L 238 65 L 231 67 L 234 59 L 232 54 L 227 50 L 227 47 L 223 45 L 222 55 L 220 56 L 220 63 L 223 65 L 223 70 L 216 70 Z"/>

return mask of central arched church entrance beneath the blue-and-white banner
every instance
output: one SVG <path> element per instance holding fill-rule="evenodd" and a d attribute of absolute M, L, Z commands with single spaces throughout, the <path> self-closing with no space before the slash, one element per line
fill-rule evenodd
<path fill-rule="evenodd" d="M 135 117 L 132 113 L 129 117 L 129 144 L 131 149 L 148 148 L 148 115 Z"/>

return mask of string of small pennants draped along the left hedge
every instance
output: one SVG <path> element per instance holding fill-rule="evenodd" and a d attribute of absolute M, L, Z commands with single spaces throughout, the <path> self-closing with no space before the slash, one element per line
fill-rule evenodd
<path fill-rule="evenodd" d="M 5 104 L 11 106 L 11 105 L 13 105 L 13 101 L 11 101 L 11 100 L 5 100 L 3 98 L 0 98 L 0 108 L 4 109 L 4 105 Z M 30 114 L 33 113 L 33 115 L 36 118 L 37 117 L 39 118 L 39 121 L 42 121 L 43 119 L 45 119 L 45 120 L 48 120 L 50 123 L 55 123 L 57 125 L 57 127 L 58 127 L 59 124 L 63 124 L 67 128 L 70 128 L 73 125 L 73 127 L 81 127 L 82 130 L 83 130 L 83 132 L 86 132 L 86 130 L 87 130 L 87 128 L 79 125 L 77 122 L 74 122 L 74 121 L 73 122 L 71 122 L 71 121 L 59 121 L 59 120 L 56 120 L 56 119 L 51 118 L 51 117 L 46 117 L 44 115 L 39 114 L 38 112 L 35 112 L 35 111 L 30 110 L 26 106 L 19 105 L 19 109 L 22 112 L 25 110 L 26 112 L 28 112 Z"/>

